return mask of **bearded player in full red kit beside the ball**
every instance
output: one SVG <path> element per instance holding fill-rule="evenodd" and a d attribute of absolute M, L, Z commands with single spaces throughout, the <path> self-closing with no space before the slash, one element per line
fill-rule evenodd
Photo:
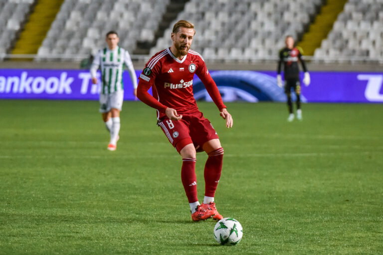
<path fill-rule="evenodd" d="M 172 46 L 155 54 L 146 64 L 139 78 L 137 97 L 157 110 L 158 126 L 182 157 L 181 180 L 192 220 L 220 220 L 222 215 L 215 207 L 214 194 L 221 175 L 223 148 L 213 126 L 198 110 L 192 89 L 194 74 L 205 85 L 227 128 L 232 127 L 233 119 L 203 58 L 190 49 L 194 34 L 194 25 L 189 21 L 180 20 L 174 25 Z M 148 93 L 150 87 L 153 96 Z M 200 151 L 208 155 L 202 204 L 198 202 L 195 176 L 196 152 Z"/>

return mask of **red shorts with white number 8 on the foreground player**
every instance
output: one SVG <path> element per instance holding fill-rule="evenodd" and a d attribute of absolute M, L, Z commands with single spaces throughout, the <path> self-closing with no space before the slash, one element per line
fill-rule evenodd
<path fill-rule="evenodd" d="M 217 132 L 210 121 L 203 117 L 202 112 L 183 115 L 182 119 L 178 121 L 165 117 L 158 125 L 168 137 L 169 142 L 177 148 L 178 152 L 182 148 L 178 148 L 177 144 L 186 138 L 192 140 L 197 151 L 201 151 L 203 144 L 207 141 L 219 139 Z"/>

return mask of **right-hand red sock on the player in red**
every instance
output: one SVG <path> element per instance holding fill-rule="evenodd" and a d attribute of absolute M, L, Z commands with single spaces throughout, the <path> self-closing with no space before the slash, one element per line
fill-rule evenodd
<path fill-rule="evenodd" d="M 210 152 L 208 156 L 203 173 L 205 177 L 205 196 L 214 197 L 221 177 L 223 148 Z"/>

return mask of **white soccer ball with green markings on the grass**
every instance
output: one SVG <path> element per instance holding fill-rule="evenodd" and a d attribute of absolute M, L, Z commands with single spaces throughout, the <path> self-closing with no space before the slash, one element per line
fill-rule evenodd
<path fill-rule="evenodd" d="M 242 226 L 233 218 L 224 218 L 214 226 L 214 238 L 221 245 L 236 245 L 242 239 Z"/>

